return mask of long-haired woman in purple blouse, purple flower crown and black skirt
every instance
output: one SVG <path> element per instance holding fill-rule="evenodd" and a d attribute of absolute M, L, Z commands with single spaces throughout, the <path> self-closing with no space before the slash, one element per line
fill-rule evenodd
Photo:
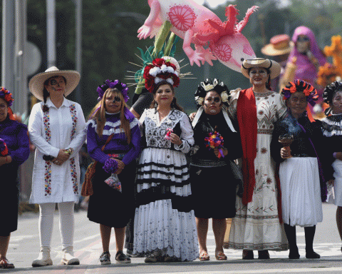
<path fill-rule="evenodd" d="M 88 218 L 100 223 L 101 265 L 110 264 L 111 228 L 115 230 L 116 262 L 130 263 L 130 258 L 123 253 L 123 243 L 125 227 L 135 209 L 135 158 L 140 153 L 140 129 L 138 120 L 125 104 L 128 101 L 125 83 L 106 80 L 97 91 L 100 101 L 90 113 L 87 131 L 88 153 L 98 161 L 92 179 Z M 113 138 L 105 145 L 112 134 Z M 105 183 L 111 173 L 118 175 L 121 192 Z"/>

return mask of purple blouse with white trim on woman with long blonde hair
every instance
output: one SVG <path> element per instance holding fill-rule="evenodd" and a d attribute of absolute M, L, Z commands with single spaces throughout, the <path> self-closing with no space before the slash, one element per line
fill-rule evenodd
<path fill-rule="evenodd" d="M 91 158 L 100 163 L 110 158 L 108 154 L 125 153 L 123 163 L 128 165 L 134 161 L 140 153 L 140 129 L 138 126 L 138 119 L 133 116 L 130 111 L 125 111 L 125 116 L 130 122 L 130 144 L 127 143 L 125 133 L 120 129 L 120 113 L 106 113 L 105 114 L 105 127 L 103 128 L 103 136 L 98 136 L 97 124 L 95 120 L 88 121 L 87 131 L 87 148 Z M 105 146 L 105 151 L 101 148 L 110 134 L 115 133 L 112 140 Z"/>

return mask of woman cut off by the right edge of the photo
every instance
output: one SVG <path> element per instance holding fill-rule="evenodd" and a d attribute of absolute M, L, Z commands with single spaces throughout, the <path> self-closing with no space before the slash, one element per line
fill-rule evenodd
<path fill-rule="evenodd" d="M 333 183 L 334 203 L 337 205 L 336 223 L 342 240 L 342 82 L 335 81 L 326 86 L 323 98 L 329 105 L 327 117 L 322 119 L 323 135 L 326 138 L 324 146 L 328 153 L 328 163 L 332 164 L 326 180 Z"/>

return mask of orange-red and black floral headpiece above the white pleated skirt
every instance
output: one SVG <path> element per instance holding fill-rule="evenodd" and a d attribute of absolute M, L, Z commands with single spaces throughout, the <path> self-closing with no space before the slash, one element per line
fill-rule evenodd
<path fill-rule="evenodd" d="M 307 83 L 303 80 L 295 80 L 294 82 L 289 82 L 289 84 L 283 88 L 281 94 L 284 96 L 284 100 L 287 100 L 291 97 L 292 93 L 297 91 L 302 91 L 306 96 L 306 101 L 308 101 L 311 106 L 314 106 L 315 102 L 318 99 L 318 94 L 316 88 L 311 86 L 310 83 Z"/>

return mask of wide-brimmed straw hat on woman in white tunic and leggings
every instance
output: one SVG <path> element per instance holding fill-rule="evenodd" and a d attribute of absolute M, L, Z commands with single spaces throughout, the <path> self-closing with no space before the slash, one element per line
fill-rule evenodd
<path fill-rule="evenodd" d="M 46 71 L 38 73 L 31 78 L 28 83 L 28 88 L 30 88 L 31 93 L 41 101 L 43 101 L 44 83 L 52 76 L 63 76 L 66 78 L 65 96 L 68 96 L 76 88 L 81 78 L 80 73 L 77 71 L 60 71 L 56 66 L 51 66 L 51 68 L 46 69 Z"/>

